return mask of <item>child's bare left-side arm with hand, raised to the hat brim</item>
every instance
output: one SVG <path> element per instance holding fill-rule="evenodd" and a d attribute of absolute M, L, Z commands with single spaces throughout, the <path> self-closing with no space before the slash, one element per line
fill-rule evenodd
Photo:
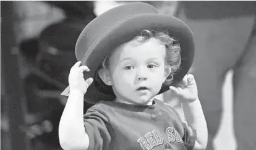
<path fill-rule="evenodd" d="M 83 71 L 90 71 L 87 66 L 80 66 L 80 61 L 70 69 L 70 93 L 59 122 L 59 142 L 63 149 L 88 149 L 89 138 L 83 125 L 83 95 L 93 79 L 83 79 Z"/>

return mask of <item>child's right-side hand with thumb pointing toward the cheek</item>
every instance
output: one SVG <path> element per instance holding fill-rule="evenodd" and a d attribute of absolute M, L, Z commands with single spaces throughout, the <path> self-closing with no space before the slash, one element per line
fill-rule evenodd
<path fill-rule="evenodd" d="M 184 76 L 178 87 L 170 86 L 169 89 L 182 103 L 190 103 L 198 99 L 197 84 L 192 74 Z"/>

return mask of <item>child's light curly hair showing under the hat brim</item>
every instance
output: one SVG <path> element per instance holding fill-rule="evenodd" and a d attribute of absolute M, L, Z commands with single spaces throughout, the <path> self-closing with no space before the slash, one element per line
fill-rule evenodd
<path fill-rule="evenodd" d="M 136 36 L 129 42 L 132 42 L 132 44 L 142 44 L 144 42 L 147 42 L 151 38 L 156 39 L 156 41 L 158 41 L 161 45 L 164 45 L 164 47 L 166 48 L 165 63 L 171 68 L 171 74 L 169 74 L 163 84 L 170 85 L 171 81 L 173 81 L 174 73 L 176 73 L 176 71 L 181 66 L 181 46 L 179 45 L 177 39 L 169 36 L 169 34 L 164 31 L 143 30 L 140 33 L 140 36 Z M 109 56 L 105 57 L 101 64 L 101 67 L 105 69 L 109 68 Z"/>

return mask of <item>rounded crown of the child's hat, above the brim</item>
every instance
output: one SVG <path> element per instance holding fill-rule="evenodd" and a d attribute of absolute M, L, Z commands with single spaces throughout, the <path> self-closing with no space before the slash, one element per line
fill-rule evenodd
<path fill-rule="evenodd" d="M 118 22 L 121 22 L 127 17 L 139 14 L 158 14 L 158 11 L 150 4 L 132 2 L 130 4 L 117 6 L 96 17 L 92 22 L 88 23 L 82 33 L 80 33 L 77 41 L 83 41 L 84 50 L 77 50 L 76 44 L 75 56 L 77 60 L 82 60 L 85 53 L 93 47 L 97 39 Z"/>

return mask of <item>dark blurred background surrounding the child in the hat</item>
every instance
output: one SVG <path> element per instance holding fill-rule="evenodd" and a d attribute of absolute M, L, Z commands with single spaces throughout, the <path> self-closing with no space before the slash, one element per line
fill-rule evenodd
<path fill-rule="evenodd" d="M 127 2 L 1 1 L 2 150 L 61 149 L 58 124 L 67 98 L 60 93 L 77 61 L 75 42 L 93 18 Z M 194 32 L 190 72 L 210 130 L 207 149 L 256 149 L 255 2 L 143 2 L 181 18 Z M 90 106 L 85 103 L 84 111 Z M 245 141 L 237 144 L 237 137 Z"/>

